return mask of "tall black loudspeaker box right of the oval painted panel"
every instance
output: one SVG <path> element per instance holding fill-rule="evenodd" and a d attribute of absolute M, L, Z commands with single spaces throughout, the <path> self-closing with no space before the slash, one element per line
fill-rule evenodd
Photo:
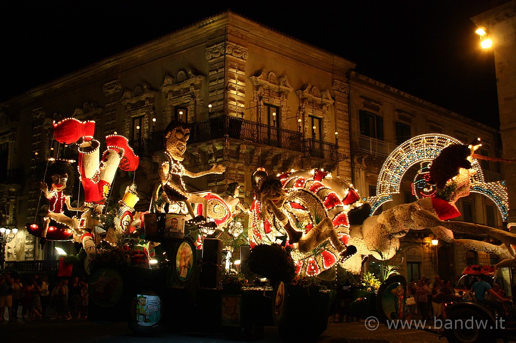
<path fill-rule="evenodd" d="M 202 264 L 200 286 L 204 288 L 217 288 L 220 286 L 220 273 L 222 271 L 222 240 L 218 238 L 205 238 L 202 242 Z"/>

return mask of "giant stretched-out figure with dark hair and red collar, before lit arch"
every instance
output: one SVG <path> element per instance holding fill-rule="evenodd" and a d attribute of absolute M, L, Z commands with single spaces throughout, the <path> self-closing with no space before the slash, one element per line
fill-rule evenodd
<path fill-rule="evenodd" d="M 358 274 L 361 257 L 373 255 L 377 259 L 389 260 L 399 248 L 399 238 L 409 230 L 430 229 L 434 235 L 446 242 L 476 251 L 498 255 L 504 261 L 497 267 L 515 265 L 514 249 L 516 235 L 487 226 L 462 221 L 447 221 L 460 216 L 456 201 L 470 194 L 472 155 L 477 144 L 451 144 L 433 160 L 429 171 L 429 184 L 436 187 L 432 196 L 412 203 L 397 205 L 364 220 L 361 225 L 350 226 L 350 244 L 357 247 L 358 253 L 343 263 L 343 267 Z M 454 232 L 490 235 L 504 244 L 493 245 L 475 239 L 455 239 Z"/>

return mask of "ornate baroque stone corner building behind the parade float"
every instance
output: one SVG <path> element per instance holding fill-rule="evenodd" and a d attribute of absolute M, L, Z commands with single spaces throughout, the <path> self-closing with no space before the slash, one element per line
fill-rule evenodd
<path fill-rule="evenodd" d="M 7 162 L 2 172 L 14 177 L 21 170 L 29 176 L 0 181 L 5 182 L 0 184 L 2 224 L 19 229 L 15 255 L 7 258 L 55 260 L 54 246 L 73 253 L 67 242 L 47 243 L 41 250 L 23 230 L 25 223 L 41 220 L 35 183 L 44 174 L 46 159 L 57 153 L 75 156 L 70 147 L 52 140 L 52 122 L 64 117 L 95 120 L 95 138 L 101 143 L 114 132 L 127 136 L 140 166 L 131 175 L 118 172 L 111 198 L 118 199 L 135 181 L 140 211 L 149 208 L 163 161 L 163 130 L 174 118 L 192 128 L 187 169 L 206 170 L 213 163 L 226 167 L 222 175 L 187 180 L 190 191 L 221 194 L 236 181 L 248 206 L 250 178 L 257 167 L 269 174 L 324 168 L 350 180 L 368 197 L 376 195 L 380 167 L 389 153 L 411 136 L 443 133 L 463 143 L 481 137 L 483 153 L 496 155 L 494 129 L 361 75 L 355 65 L 226 11 L 3 102 L 0 142 Z M 498 177 L 495 163 L 485 167 L 492 171 L 490 177 Z M 414 175 L 408 174 L 402 191 L 384 208 L 415 199 L 409 191 Z M 75 192 L 80 201 L 78 185 Z M 493 214 L 494 222 L 488 221 L 486 209 L 496 209 L 489 199 L 470 197 L 459 207 L 465 206 L 469 217 L 459 219 L 502 225 L 499 213 Z M 431 250 L 430 238 L 428 232 L 406 237 L 418 250 L 404 252 L 404 272 L 433 276 L 438 272 L 436 252 L 439 258 L 446 252 L 443 263 L 460 272 L 459 260 L 466 252 L 448 246 L 438 246 L 446 248 L 442 253 Z M 486 254 L 476 256 L 478 262 L 489 260 Z"/>

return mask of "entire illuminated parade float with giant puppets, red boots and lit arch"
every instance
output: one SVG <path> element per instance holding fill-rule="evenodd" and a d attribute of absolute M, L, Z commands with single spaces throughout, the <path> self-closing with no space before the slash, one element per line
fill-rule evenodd
<path fill-rule="evenodd" d="M 89 320 L 127 321 L 139 335 L 167 328 L 249 338 L 276 325 L 285 340 L 314 338 L 327 328 L 331 299 L 324 281 L 335 280 L 337 268 L 359 276 L 369 255 L 392 259 L 409 230 L 429 229 L 446 242 L 495 253 L 503 259 L 500 266 L 516 261 L 508 248 L 516 245 L 516 235 L 448 221 L 460 215 L 455 202 L 470 192 L 490 197 L 507 215 L 505 185 L 483 180 L 475 153 L 479 141 L 467 145 L 441 134 L 416 136 L 386 160 L 379 193 L 370 198 L 322 169 L 269 175 L 258 168 L 251 180 L 253 202 L 246 209 L 238 201 L 237 183 L 222 195 L 188 192 L 184 176 L 222 174 L 225 168 L 214 164 L 192 173 L 183 165 L 188 125 L 173 121 L 165 131 L 159 180 L 148 211 L 138 212 L 134 183 L 115 207 L 106 206 L 117 169 L 137 172 L 139 158 L 127 139 L 108 135 L 101 158 L 94 122 L 67 118 L 54 124 L 54 139 L 78 150 L 84 202 L 80 207 L 70 202 L 75 161 L 53 158 L 40 185 L 49 202 L 43 224 L 29 223 L 27 230 L 41 244 L 73 240 L 82 248 L 77 256 L 83 256 L 79 265 L 89 276 Z M 399 193 L 401 179 L 416 164 L 421 165 L 413 182 L 418 200 L 375 214 Z M 247 222 L 236 215 L 240 211 Z M 456 239 L 454 232 L 488 234 L 503 244 Z M 241 263 L 249 272 L 244 274 L 230 254 L 247 248 L 249 257 Z M 392 304 L 399 287 L 406 291 L 406 280 L 398 275 L 382 281 L 377 291 L 354 295 L 356 311 L 401 319 L 404 303 Z M 307 317 L 312 324 L 299 330 Z"/>

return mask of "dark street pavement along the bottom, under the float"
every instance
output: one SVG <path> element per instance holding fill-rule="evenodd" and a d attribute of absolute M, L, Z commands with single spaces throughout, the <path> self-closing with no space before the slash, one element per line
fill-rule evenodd
<path fill-rule="evenodd" d="M 53 315 L 50 308 L 47 315 Z M 309 325 L 307 321 L 299 323 L 300 330 L 303 325 Z M 446 338 L 439 340 L 436 334 L 416 329 L 390 330 L 380 324 L 378 329 L 369 331 L 365 327 L 365 321 L 351 323 L 334 323 L 333 317 L 328 319 L 328 329 L 322 333 L 314 342 L 322 343 L 405 343 L 414 342 L 438 342 L 446 343 Z M 2 343 L 25 343 L 25 342 L 120 342 L 120 343 L 142 343 L 142 342 L 200 342 L 200 343 L 228 343 L 240 341 L 228 337 L 208 337 L 199 335 L 182 335 L 167 330 L 159 331 L 154 337 L 134 336 L 126 323 L 102 324 L 88 321 L 87 319 L 72 320 L 50 320 L 49 318 L 35 321 L 15 322 L 4 321 L 0 323 L 0 342 Z M 276 327 L 265 327 L 263 335 L 253 340 L 254 342 L 281 342 Z"/>

